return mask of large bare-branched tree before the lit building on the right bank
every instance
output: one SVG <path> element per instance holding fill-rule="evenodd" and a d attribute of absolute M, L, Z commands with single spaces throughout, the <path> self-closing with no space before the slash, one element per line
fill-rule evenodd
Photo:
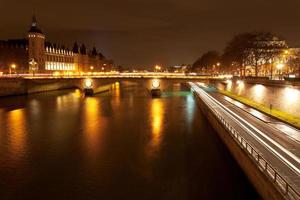
<path fill-rule="evenodd" d="M 271 64 L 287 48 L 286 42 L 269 32 L 242 33 L 233 37 L 222 55 L 222 64 L 231 69 L 240 68 L 245 76 L 246 66 L 253 66 L 255 76 L 260 67 Z M 273 65 L 271 64 L 271 76 Z"/>

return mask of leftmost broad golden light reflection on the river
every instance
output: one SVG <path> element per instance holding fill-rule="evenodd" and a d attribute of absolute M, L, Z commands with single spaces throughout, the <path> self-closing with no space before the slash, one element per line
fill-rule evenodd
<path fill-rule="evenodd" d="M 7 128 L 10 130 L 10 149 L 14 158 L 21 157 L 25 152 L 26 144 L 26 116 L 24 109 L 8 112 Z"/>

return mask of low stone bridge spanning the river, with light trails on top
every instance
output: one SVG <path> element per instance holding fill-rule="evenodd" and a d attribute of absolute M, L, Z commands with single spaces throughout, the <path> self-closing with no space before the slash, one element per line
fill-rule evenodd
<path fill-rule="evenodd" d="M 93 87 L 100 87 L 119 82 L 132 82 L 143 87 L 151 87 L 151 81 L 155 77 L 80 77 L 80 78 L 0 78 L 0 96 L 33 94 L 38 92 L 54 91 L 61 89 L 79 88 L 83 89 L 84 80 L 92 79 Z M 178 78 L 178 77 L 157 77 L 161 80 L 161 88 L 164 89 L 167 83 L 186 83 L 188 81 L 205 81 L 208 78 Z"/>

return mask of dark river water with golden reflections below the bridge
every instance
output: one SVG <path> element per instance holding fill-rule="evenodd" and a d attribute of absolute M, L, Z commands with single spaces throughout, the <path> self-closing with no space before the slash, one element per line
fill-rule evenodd
<path fill-rule="evenodd" d="M 1 200 L 258 198 L 180 84 L 0 99 Z"/>

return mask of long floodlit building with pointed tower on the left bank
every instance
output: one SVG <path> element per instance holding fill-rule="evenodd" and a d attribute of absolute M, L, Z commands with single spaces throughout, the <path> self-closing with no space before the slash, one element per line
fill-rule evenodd
<path fill-rule="evenodd" d="M 14 69 L 11 67 L 14 66 Z M 46 41 L 35 16 L 26 39 L 0 40 L 0 72 L 38 73 L 100 72 L 113 68 L 94 47 L 88 51 L 76 42 L 72 50 Z"/>

